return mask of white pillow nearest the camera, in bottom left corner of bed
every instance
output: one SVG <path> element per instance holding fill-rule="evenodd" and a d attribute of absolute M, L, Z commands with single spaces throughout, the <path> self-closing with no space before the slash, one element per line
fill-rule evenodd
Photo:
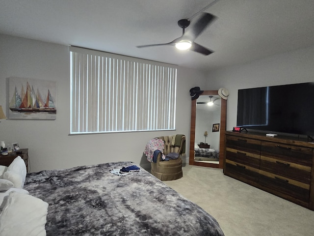
<path fill-rule="evenodd" d="M 48 203 L 13 191 L 4 198 L 3 204 L 1 236 L 46 236 Z"/>

